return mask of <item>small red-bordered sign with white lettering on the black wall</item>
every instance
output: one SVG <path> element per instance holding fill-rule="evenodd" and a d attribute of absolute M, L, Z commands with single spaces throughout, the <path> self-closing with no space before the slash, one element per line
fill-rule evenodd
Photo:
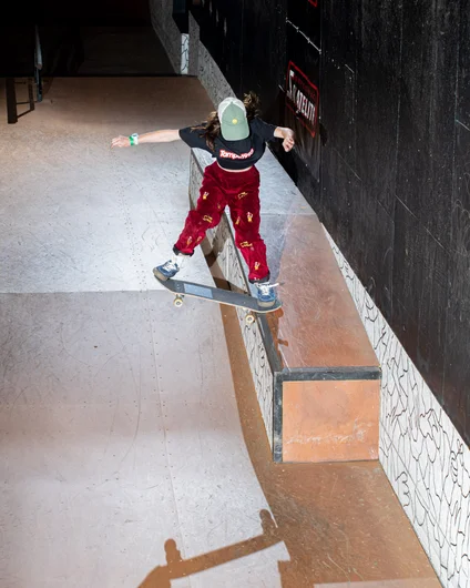
<path fill-rule="evenodd" d="M 318 118 L 318 88 L 297 65 L 289 61 L 286 77 L 286 105 L 311 136 L 315 136 Z"/>

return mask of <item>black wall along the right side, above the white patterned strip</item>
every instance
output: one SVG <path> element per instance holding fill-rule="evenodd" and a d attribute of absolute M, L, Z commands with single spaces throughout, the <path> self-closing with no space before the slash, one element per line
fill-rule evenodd
<path fill-rule="evenodd" d="M 202 7 L 202 41 L 296 130 L 276 154 L 468 443 L 470 0 Z"/>

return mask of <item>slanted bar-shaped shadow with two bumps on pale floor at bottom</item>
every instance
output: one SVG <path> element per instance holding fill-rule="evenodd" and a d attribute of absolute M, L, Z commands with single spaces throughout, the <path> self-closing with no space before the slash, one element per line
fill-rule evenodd
<path fill-rule="evenodd" d="M 183 559 L 176 541 L 167 539 L 165 541 L 166 566 L 154 568 L 139 588 L 171 588 L 172 580 L 227 564 L 279 543 L 282 539 L 278 536 L 278 528 L 270 513 L 260 510 L 259 518 L 263 529 L 262 535 L 190 559 Z"/>

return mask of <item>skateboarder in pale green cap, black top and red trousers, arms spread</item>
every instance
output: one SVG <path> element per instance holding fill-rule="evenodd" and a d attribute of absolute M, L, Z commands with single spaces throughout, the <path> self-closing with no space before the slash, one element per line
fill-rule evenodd
<path fill-rule="evenodd" d="M 259 236 L 259 172 L 255 163 L 263 156 L 266 141 L 283 139 L 285 151 L 294 146 L 294 131 L 264 122 L 259 99 L 254 93 L 244 101 L 226 98 L 198 126 L 153 131 L 117 136 L 112 146 L 161 143 L 182 139 L 191 148 L 208 151 L 215 162 L 204 171 L 196 209 L 190 211 L 172 257 L 154 268 L 160 280 L 174 277 L 183 263 L 203 241 L 207 229 L 217 226 L 228 205 L 235 230 L 235 243 L 249 268 L 249 282 L 257 286 L 259 306 L 276 303 L 275 285 L 269 283 L 266 245 Z"/>

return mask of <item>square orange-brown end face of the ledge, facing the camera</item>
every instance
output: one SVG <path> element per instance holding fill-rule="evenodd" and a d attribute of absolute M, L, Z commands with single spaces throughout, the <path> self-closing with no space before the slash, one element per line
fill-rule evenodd
<path fill-rule="evenodd" d="M 379 382 L 285 382 L 283 460 L 378 458 Z"/>

